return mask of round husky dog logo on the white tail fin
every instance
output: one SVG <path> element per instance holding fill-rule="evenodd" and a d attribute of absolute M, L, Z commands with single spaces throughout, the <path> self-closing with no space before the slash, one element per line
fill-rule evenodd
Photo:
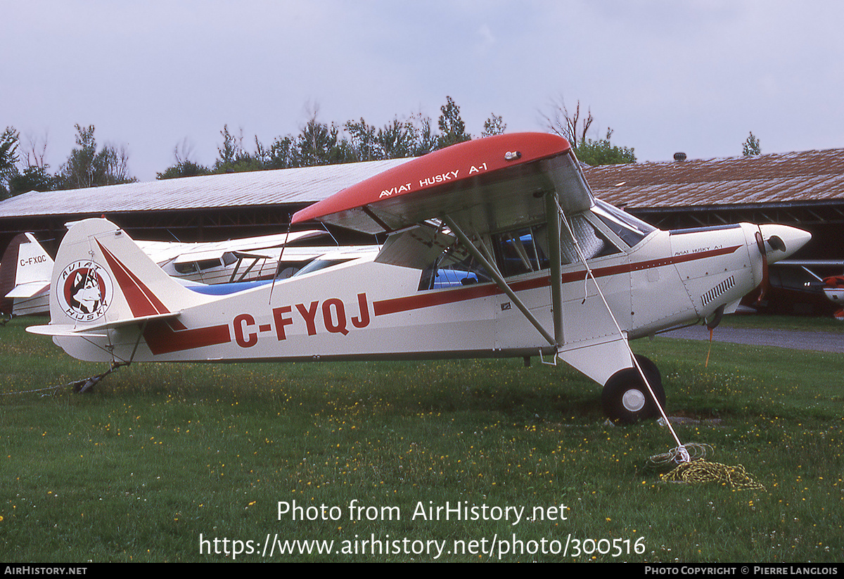
<path fill-rule="evenodd" d="M 58 303 L 68 317 L 78 322 L 102 317 L 111 305 L 112 293 L 111 276 L 95 262 L 73 262 L 58 277 Z"/>

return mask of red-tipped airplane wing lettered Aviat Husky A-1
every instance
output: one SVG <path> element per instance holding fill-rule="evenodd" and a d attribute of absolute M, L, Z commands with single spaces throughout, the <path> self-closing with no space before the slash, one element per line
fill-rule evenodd
<path fill-rule="evenodd" d="M 544 192 L 567 214 L 592 207 L 571 146 L 545 133 L 460 143 L 371 177 L 294 214 L 365 233 L 391 233 L 447 215 L 484 235 L 544 220 Z"/>

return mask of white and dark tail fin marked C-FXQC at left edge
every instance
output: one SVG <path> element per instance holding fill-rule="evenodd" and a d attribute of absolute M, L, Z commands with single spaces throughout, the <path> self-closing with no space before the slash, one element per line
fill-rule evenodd
<path fill-rule="evenodd" d="M 53 261 L 31 233 L 15 235 L 0 262 L 0 313 L 46 313 Z"/>

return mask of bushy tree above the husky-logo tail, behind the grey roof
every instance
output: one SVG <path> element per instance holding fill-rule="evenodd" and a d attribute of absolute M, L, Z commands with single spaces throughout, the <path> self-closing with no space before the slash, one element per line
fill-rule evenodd
<path fill-rule="evenodd" d="M 111 144 L 97 151 L 94 125 L 76 125 L 77 147 L 71 150 L 56 176 L 57 189 L 84 189 L 137 181 L 128 174 L 129 154 Z"/>

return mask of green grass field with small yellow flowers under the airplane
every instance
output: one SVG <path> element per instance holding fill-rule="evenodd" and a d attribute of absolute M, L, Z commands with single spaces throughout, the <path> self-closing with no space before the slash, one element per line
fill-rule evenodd
<path fill-rule="evenodd" d="M 664 482 L 668 430 L 607 424 L 562 365 L 132 365 L 31 392 L 105 368 L 25 323 L 0 327 L 6 562 L 844 560 L 841 354 L 634 344 L 681 441 L 765 487 L 735 490 Z"/>

